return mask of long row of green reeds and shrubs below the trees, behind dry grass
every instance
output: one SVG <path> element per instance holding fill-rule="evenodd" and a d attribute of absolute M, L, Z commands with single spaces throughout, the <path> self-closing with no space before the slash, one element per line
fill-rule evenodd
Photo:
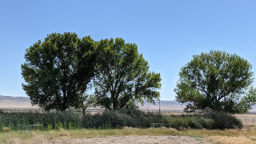
<path fill-rule="evenodd" d="M 242 123 L 233 115 L 210 111 L 204 114 L 162 115 L 136 109 L 121 109 L 90 113 L 85 115 L 73 110 L 66 111 L 6 111 L 0 109 L 0 131 L 21 129 L 22 125 L 44 124 L 44 130 L 80 129 L 80 128 L 122 128 L 124 126 L 148 128 L 151 123 L 169 124 L 170 127 L 182 128 L 241 128 Z M 157 126 L 157 125 L 155 125 Z M 168 125 L 165 125 L 166 127 Z M 42 127 L 36 127 L 42 128 Z"/>

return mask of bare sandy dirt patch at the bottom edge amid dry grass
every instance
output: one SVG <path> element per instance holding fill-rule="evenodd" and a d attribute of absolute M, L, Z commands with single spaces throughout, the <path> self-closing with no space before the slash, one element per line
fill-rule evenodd
<path fill-rule="evenodd" d="M 95 137 L 95 138 L 63 138 L 54 139 L 51 143 L 194 143 L 194 144 L 206 144 L 209 142 L 202 141 L 200 138 L 193 138 L 188 136 L 106 136 L 106 137 Z"/>

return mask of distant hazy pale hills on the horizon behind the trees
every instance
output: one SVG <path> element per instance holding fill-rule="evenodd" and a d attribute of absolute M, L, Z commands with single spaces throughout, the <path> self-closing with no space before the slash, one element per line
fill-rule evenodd
<path fill-rule="evenodd" d="M 170 111 L 170 112 L 182 112 L 186 103 L 181 104 L 178 101 L 170 101 L 170 100 L 160 100 L 160 111 Z M 29 97 L 22 96 L 3 96 L 0 95 L 0 108 L 33 108 L 37 109 L 37 106 L 32 106 L 30 103 Z M 147 103 L 139 106 L 141 110 L 149 110 L 149 111 L 158 111 L 159 110 L 159 101 L 155 101 L 155 105 L 151 103 Z M 250 112 L 256 112 L 256 105 L 252 106 Z"/>

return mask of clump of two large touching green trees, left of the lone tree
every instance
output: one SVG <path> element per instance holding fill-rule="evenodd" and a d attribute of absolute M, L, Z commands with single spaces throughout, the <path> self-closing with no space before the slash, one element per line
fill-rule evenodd
<path fill-rule="evenodd" d="M 122 38 L 51 33 L 25 51 L 22 88 L 32 105 L 45 110 L 86 108 L 90 102 L 113 110 L 159 99 L 160 73 L 149 71 L 137 45 Z M 92 86 L 93 96 L 85 93 Z"/>

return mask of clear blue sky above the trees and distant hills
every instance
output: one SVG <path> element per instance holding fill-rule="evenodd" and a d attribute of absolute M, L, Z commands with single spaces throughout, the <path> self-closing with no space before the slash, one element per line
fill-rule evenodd
<path fill-rule="evenodd" d="M 238 54 L 255 73 L 255 7 L 256 0 L 0 0 L 0 95 L 26 96 L 25 49 L 52 32 L 136 43 L 161 74 L 161 100 L 175 98 L 180 67 L 210 49 Z"/>

